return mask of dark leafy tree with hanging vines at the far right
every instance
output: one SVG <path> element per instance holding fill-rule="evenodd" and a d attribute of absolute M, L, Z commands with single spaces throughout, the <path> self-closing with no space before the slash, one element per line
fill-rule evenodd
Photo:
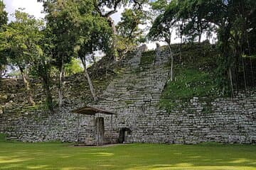
<path fill-rule="evenodd" d="M 238 89 L 240 84 L 238 75 L 241 71 L 245 92 L 247 91 L 243 56 L 252 55 L 248 31 L 255 31 L 255 25 L 251 24 L 255 16 L 254 6 L 255 1 L 251 0 L 215 0 L 208 4 L 208 15 L 204 18 L 218 26 L 218 47 L 222 54 L 218 66 L 218 83 L 223 94 L 234 95 L 234 89 Z"/>

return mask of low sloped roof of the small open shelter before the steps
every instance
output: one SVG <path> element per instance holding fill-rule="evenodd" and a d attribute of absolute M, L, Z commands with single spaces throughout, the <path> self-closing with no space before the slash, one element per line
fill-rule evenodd
<path fill-rule="evenodd" d="M 84 114 L 84 115 L 95 115 L 96 113 L 104 113 L 107 115 L 116 115 L 117 114 L 112 111 L 106 111 L 102 108 L 96 108 L 96 107 L 92 107 L 92 106 L 84 106 L 82 108 L 75 109 L 72 112 Z"/>

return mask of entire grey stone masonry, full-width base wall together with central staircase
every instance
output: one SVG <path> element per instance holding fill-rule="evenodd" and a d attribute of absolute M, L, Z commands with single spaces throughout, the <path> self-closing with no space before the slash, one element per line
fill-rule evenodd
<path fill-rule="evenodd" d="M 126 142 L 186 143 L 256 142 L 256 93 L 238 94 L 235 98 L 191 98 L 176 101 L 177 107 L 167 113 L 159 109 L 161 92 L 168 79 L 168 52 L 159 52 L 154 62 L 140 65 L 134 55 L 124 65 L 124 74 L 107 86 L 97 107 L 114 111 L 99 114 L 105 120 L 105 140 L 117 142 L 119 130 L 129 128 Z M 61 140 L 95 143 L 95 118 L 76 115 L 71 110 L 82 106 L 65 106 L 50 115 L 42 111 L 23 115 L 0 114 L 0 132 L 9 139 L 26 142 Z"/>

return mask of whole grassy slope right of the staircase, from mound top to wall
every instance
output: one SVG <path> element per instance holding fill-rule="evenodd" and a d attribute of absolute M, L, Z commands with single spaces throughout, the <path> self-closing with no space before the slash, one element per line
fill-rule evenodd
<path fill-rule="evenodd" d="M 172 45 L 172 49 L 177 51 L 178 46 Z M 176 63 L 174 81 L 168 81 L 159 102 L 159 106 L 168 111 L 178 105 L 177 100 L 188 101 L 193 97 L 219 96 L 215 74 L 219 58 L 217 48 L 208 43 L 192 43 L 183 45 L 182 49 L 183 65 Z M 178 57 L 179 55 L 175 56 Z"/>

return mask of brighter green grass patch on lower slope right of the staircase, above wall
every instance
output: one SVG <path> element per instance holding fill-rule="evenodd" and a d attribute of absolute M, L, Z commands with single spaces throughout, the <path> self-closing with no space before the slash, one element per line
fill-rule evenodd
<path fill-rule="evenodd" d="M 169 81 L 161 95 L 161 107 L 169 111 L 176 106 L 176 100 L 217 95 L 215 79 L 208 72 L 188 67 L 178 67 L 175 71 L 175 81 Z"/>

